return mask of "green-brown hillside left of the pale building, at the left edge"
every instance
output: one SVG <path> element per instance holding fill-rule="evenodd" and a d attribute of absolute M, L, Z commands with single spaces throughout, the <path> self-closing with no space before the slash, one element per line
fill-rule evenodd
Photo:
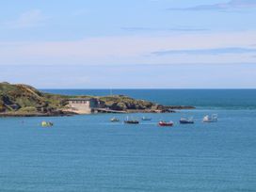
<path fill-rule="evenodd" d="M 66 98 L 23 84 L 0 83 L 0 113 L 61 114 Z"/>

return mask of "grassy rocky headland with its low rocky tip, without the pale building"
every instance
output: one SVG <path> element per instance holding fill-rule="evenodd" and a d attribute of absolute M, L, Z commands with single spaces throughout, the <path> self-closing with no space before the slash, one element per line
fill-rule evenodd
<path fill-rule="evenodd" d="M 67 100 L 78 96 L 44 93 L 23 84 L 0 83 L 0 116 L 66 116 L 69 111 Z M 175 109 L 191 109 L 193 106 L 165 106 L 144 100 L 136 100 L 124 95 L 79 96 L 97 99 L 104 108 L 134 112 L 174 112 Z"/>

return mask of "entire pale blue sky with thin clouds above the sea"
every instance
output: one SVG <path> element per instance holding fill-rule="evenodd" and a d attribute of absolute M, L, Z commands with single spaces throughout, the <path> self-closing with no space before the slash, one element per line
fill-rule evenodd
<path fill-rule="evenodd" d="M 0 82 L 256 88 L 256 0 L 8 0 Z"/>

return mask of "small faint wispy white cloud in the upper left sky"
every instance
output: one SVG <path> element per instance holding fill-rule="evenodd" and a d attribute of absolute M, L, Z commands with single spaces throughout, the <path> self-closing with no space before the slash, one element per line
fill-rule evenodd
<path fill-rule="evenodd" d="M 40 9 L 32 9 L 22 13 L 16 20 L 6 22 L 4 25 L 10 28 L 34 27 L 40 26 L 46 19 Z"/>

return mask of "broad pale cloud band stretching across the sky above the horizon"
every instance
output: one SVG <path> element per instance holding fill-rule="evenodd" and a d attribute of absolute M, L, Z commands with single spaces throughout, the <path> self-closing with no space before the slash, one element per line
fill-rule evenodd
<path fill-rule="evenodd" d="M 226 52 L 206 55 L 203 50 L 227 47 L 247 49 L 256 41 L 255 31 L 88 38 L 76 41 L 0 42 L 0 65 L 108 65 L 255 62 L 254 53 Z M 155 56 L 165 50 L 202 50 L 197 55 Z"/>

